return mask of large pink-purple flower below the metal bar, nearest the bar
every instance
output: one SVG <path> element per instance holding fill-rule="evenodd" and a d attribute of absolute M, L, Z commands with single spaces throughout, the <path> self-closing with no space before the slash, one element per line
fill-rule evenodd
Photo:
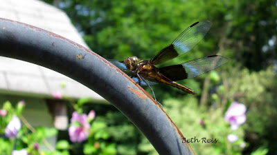
<path fill-rule="evenodd" d="M 69 127 L 70 140 L 78 143 L 87 140 L 90 127 L 91 125 L 87 122 L 87 114 L 78 114 L 78 112 L 73 112 L 71 126 Z"/>

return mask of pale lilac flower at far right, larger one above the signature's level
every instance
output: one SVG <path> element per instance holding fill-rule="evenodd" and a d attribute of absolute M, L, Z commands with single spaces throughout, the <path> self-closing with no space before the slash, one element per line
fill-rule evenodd
<path fill-rule="evenodd" d="M 245 112 L 247 107 L 244 104 L 233 102 L 225 114 L 225 121 L 230 123 L 232 130 L 237 130 L 238 126 L 247 120 Z"/>

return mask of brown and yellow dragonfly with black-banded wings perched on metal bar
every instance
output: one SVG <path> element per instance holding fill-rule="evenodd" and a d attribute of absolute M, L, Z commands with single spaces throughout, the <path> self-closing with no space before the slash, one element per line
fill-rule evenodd
<path fill-rule="evenodd" d="M 129 74 L 139 85 L 150 85 L 155 83 L 165 83 L 173 87 L 177 87 L 188 94 L 196 94 L 196 92 L 185 85 L 181 85 L 176 81 L 195 78 L 205 72 L 213 70 L 228 63 L 229 58 L 220 55 L 205 56 L 198 59 L 186 61 L 178 65 L 170 65 L 163 68 L 157 68 L 159 65 L 177 56 L 186 54 L 192 50 L 206 35 L 211 28 L 211 21 L 197 21 L 190 25 L 184 32 L 170 45 L 163 48 L 150 60 L 140 60 L 136 56 L 128 56 L 124 61 L 109 60 L 116 67 Z M 154 99 L 157 101 L 154 91 L 152 90 Z"/>

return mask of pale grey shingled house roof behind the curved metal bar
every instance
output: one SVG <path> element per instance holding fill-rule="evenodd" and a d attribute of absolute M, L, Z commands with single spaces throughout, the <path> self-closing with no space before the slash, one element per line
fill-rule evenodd
<path fill-rule="evenodd" d="M 88 48 L 62 10 L 37 0 L 0 0 L 0 3 L 1 18 L 34 25 Z M 58 72 L 2 56 L 0 56 L 0 92 L 42 96 L 52 96 L 60 92 L 63 96 L 72 98 L 91 97 L 104 100 L 96 92 Z"/>

